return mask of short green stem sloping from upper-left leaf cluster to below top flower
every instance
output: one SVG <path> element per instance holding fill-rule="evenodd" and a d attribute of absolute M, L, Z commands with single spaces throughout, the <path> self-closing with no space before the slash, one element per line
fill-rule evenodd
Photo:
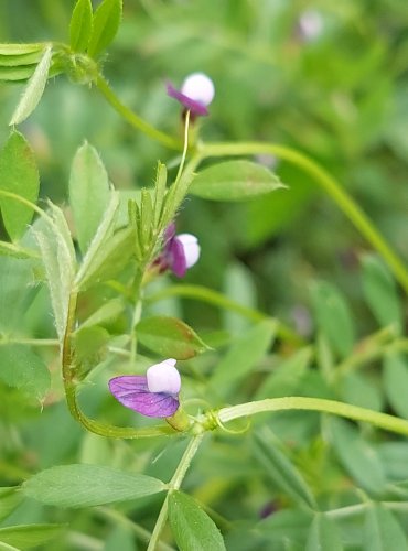
<path fill-rule="evenodd" d="M 157 140 L 170 149 L 175 149 L 175 150 L 182 149 L 183 144 L 181 143 L 180 140 L 171 138 L 170 136 L 165 134 L 164 132 L 161 132 L 160 130 L 154 128 L 152 125 L 150 125 L 146 120 L 141 119 L 131 109 L 126 107 L 126 105 L 124 105 L 120 101 L 120 99 L 116 96 L 114 90 L 110 88 L 107 80 L 105 80 L 105 78 L 101 75 L 97 76 L 95 84 L 96 84 L 98 90 L 105 97 L 105 99 L 133 128 L 136 128 L 137 130 L 140 130 L 141 132 L 144 132 L 152 140 Z"/>

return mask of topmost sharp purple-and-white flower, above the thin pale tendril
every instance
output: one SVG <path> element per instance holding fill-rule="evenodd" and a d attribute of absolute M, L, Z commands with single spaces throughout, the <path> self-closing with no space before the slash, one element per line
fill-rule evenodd
<path fill-rule="evenodd" d="M 168 83 L 168 95 L 182 104 L 193 117 L 208 115 L 207 106 L 214 98 L 214 84 L 204 73 L 189 75 L 180 90 Z"/>

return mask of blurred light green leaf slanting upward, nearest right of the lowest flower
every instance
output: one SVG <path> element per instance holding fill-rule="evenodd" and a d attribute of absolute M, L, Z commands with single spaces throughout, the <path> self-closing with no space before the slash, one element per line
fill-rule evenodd
<path fill-rule="evenodd" d="M 265 320 L 238 337 L 216 366 L 211 389 L 223 398 L 234 392 L 237 383 L 264 358 L 275 334 L 276 324 Z"/>

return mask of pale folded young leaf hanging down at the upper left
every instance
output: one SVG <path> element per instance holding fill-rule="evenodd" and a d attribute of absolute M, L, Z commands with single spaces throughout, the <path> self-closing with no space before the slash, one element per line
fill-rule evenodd
<path fill-rule="evenodd" d="M 41 96 L 44 93 L 46 80 L 49 78 L 52 55 L 52 46 L 49 45 L 46 46 L 44 55 L 36 66 L 36 69 L 34 71 L 32 77 L 28 82 L 20 102 L 11 117 L 10 126 L 19 125 L 20 122 L 25 120 L 39 105 Z"/>

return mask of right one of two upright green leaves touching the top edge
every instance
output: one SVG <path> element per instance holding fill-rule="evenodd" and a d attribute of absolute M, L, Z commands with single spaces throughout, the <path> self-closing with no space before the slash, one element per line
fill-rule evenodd
<path fill-rule="evenodd" d="M 122 12 L 122 0 L 104 0 L 94 14 L 88 54 L 95 57 L 105 50 L 118 32 Z"/>

